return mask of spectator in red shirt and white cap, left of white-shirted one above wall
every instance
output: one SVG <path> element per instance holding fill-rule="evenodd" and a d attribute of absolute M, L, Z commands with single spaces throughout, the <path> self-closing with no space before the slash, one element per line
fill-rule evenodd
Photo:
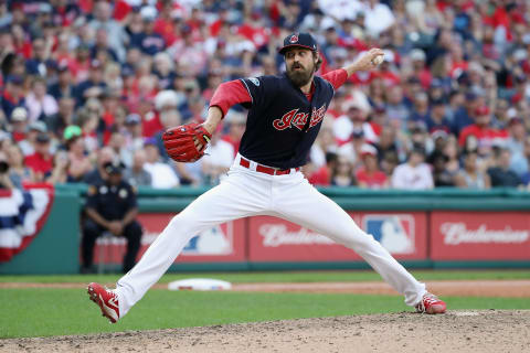
<path fill-rule="evenodd" d="M 389 180 L 379 169 L 378 150 L 371 145 L 361 148 L 362 167 L 356 171 L 356 179 L 361 189 L 386 189 Z"/>

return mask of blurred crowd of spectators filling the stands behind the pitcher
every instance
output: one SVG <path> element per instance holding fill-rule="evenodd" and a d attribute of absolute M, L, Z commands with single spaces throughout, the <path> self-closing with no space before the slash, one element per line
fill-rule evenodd
<path fill-rule="evenodd" d="M 205 118 L 224 81 L 285 71 L 307 31 L 320 73 L 378 46 L 341 87 L 304 172 L 316 185 L 527 188 L 530 7 L 524 0 L 52 0 L 0 4 L 0 183 L 215 184 L 245 129 L 234 107 L 195 163 L 168 127 Z"/>

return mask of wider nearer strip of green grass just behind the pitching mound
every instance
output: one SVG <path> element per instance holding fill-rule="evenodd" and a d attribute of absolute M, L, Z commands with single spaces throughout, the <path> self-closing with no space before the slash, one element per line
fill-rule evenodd
<path fill-rule="evenodd" d="M 451 310 L 530 309 L 530 301 L 524 298 L 444 299 Z M 2 289 L 0 302 L 2 339 L 411 310 L 399 296 L 151 290 L 129 314 L 112 325 L 82 289 Z"/>

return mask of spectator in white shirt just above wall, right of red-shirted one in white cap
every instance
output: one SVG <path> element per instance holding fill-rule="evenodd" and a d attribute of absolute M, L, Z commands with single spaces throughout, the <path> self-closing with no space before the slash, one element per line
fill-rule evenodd
<path fill-rule="evenodd" d="M 431 168 L 424 163 L 425 150 L 414 148 L 409 153 L 409 160 L 398 165 L 392 174 L 392 188 L 409 190 L 433 189 Z"/>

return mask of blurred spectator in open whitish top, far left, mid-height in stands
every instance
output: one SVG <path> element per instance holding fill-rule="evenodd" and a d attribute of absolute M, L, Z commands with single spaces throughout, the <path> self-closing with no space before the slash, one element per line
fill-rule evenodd
<path fill-rule="evenodd" d="M 31 84 L 31 92 L 25 97 L 25 107 L 29 113 L 29 120 L 46 120 L 47 117 L 57 113 L 57 101 L 46 93 L 46 82 L 36 77 Z"/>

